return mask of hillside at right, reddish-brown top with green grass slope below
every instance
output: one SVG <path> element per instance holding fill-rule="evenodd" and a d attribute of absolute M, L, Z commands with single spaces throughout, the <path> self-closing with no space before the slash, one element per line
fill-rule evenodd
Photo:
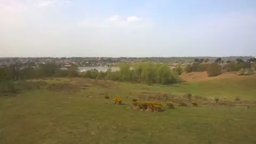
<path fill-rule="evenodd" d="M 194 78 L 193 78 L 194 77 Z M 191 93 L 208 98 L 256 101 L 256 75 L 238 76 L 234 73 L 223 73 L 208 77 L 205 72 L 182 74 L 187 82 L 172 86 L 173 93 Z"/>

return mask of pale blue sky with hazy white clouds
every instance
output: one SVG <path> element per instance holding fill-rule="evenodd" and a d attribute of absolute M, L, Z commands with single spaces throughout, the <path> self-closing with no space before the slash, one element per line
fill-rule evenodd
<path fill-rule="evenodd" d="M 255 0 L 0 0 L 0 57 L 256 56 Z"/>

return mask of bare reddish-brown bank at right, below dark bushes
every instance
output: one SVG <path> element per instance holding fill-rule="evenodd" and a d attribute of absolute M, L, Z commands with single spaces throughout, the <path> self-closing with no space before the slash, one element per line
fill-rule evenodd
<path fill-rule="evenodd" d="M 206 71 L 203 72 L 192 72 L 192 73 L 183 73 L 180 75 L 180 78 L 186 82 L 199 82 L 199 81 L 209 81 L 211 79 L 218 78 L 243 78 L 243 77 L 256 77 L 255 74 L 249 76 L 238 76 L 236 72 L 225 72 L 219 76 L 209 77 Z"/>

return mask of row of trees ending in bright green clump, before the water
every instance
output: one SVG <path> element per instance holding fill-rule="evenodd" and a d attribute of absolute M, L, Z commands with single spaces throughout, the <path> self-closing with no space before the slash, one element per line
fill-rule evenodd
<path fill-rule="evenodd" d="M 44 77 L 84 77 L 147 84 L 174 84 L 179 82 L 176 71 L 171 70 L 164 63 L 142 62 L 133 65 L 122 63 L 119 67 L 119 71 L 112 71 L 109 68 L 105 72 L 92 69 L 78 73 L 76 66 L 63 70 L 55 63 L 50 62 L 40 64 L 38 67 L 21 67 L 18 64 L 13 64 L 0 68 L 0 81 Z"/>

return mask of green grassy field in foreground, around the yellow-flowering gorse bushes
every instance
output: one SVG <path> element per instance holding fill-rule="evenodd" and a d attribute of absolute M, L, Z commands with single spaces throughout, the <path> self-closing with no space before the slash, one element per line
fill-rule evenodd
<path fill-rule="evenodd" d="M 44 79 L 48 86 L 0 97 L 0 143 L 256 143 L 256 108 L 179 107 L 151 113 L 132 98 L 187 93 L 221 100 L 256 101 L 256 77 L 220 78 L 172 86 Z M 37 80 L 38 81 L 38 80 Z M 50 85 L 50 86 L 49 86 Z M 106 93 L 110 99 L 104 98 Z M 155 96 L 154 96 L 155 95 Z M 114 105 L 121 97 L 124 105 Z"/>

